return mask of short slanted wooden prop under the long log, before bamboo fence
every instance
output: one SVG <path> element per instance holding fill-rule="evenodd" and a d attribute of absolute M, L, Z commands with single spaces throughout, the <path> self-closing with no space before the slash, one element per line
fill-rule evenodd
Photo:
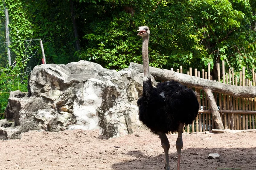
<path fill-rule="evenodd" d="M 224 129 L 223 123 L 221 121 L 221 116 L 220 113 L 218 112 L 218 106 L 215 102 L 214 96 L 212 94 L 212 91 L 209 88 L 204 88 L 204 91 L 206 93 L 208 102 L 209 102 L 209 107 L 212 112 L 212 118 L 215 122 L 215 127 L 217 129 Z"/>

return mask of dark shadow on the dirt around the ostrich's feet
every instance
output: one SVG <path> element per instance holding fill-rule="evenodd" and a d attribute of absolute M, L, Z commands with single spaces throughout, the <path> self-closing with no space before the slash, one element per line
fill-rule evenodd
<path fill-rule="evenodd" d="M 219 159 L 208 159 L 209 153 L 218 153 Z M 164 170 L 163 154 L 150 156 L 140 150 L 126 153 L 129 161 L 112 165 L 114 170 Z M 176 170 L 177 154 L 169 153 L 170 169 Z M 256 148 L 189 148 L 181 151 L 181 170 L 256 170 Z"/>

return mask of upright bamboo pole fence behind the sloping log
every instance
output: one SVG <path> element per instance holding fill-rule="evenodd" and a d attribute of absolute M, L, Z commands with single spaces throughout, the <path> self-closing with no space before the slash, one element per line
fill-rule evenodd
<path fill-rule="evenodd" d="M 222 61 L 222 83 L 230 85 L 239 85 L 239 86 L 255 86 L 255 77 L 254 69 L 252 69 L 253 79 L 245 79 L 245 68 L 243 67 L 242 71 L 239 73 L 239 77 L 235 77 L 234 70 L 229 69 L 228 72 L 225 72 L 225 62 Z M 173 71 L 173 68 L 171 68 Z M 180 69 L 177 69 L 178 73 L 182 73 L 183 69 L 180 66 Z M 217 64 L 218 71 L 218 80 L 212 80 L 210 74 L 210 64 L 208 64 L 208 70 L 204 69 L 202 72 L 194 69 L 194 74 L 192 73 L 192 68 L 189 68 L 187 74 L 190 76 L 201 77 L 203 79 L 209 79 L 212 81 L 221 82 L 221 70 L 220 64 Z M 190 125 L 186 125 L 183 129 L 183 133 L 195 133 L 195 132 L 205 132 L 211 131 L 215 128 L 215 122 L 212 119 L 212 113 L 209 110 L 208 100 L 206 94 L 203 90 L 194 89 L 199 95 L 198 102 L 200 109 L 198 111 L 198 116 L 195 121 Z M 238 98 L 229 95 L 223 95 L 221 93 L 214 93 L 215 101 L 218 105 L 219 113 L 221 120 L 223 122 L 225 129 L 231 130 L 248 130 L 256 129 L 256 97 L 255 98 Z"/>

